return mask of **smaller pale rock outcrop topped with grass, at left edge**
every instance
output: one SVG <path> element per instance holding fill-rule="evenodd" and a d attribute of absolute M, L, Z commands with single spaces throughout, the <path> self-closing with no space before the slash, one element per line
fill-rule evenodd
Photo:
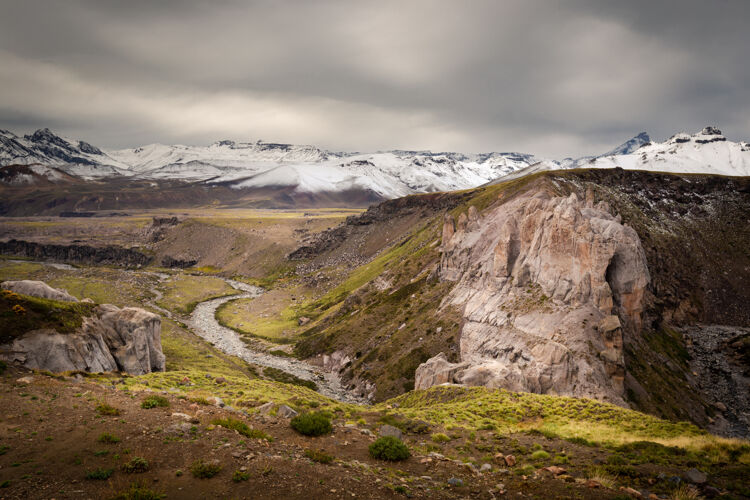
<path fill-rule="evenodd" d="M 2 287 L 6 288 L 7 283 Z M 25 287 L 16 291 L 44 298 L 53 298 L 45 296 L 49 295 L 48 289 L 64 293 L 42 285 L 44 287 Z M 164 371 L 161 318 L 135 307 L 120 309 L 102 304 L 94 309 L 92 316 L 84 317 L 80 328 L 73 333 L 32 330 L 9 344 L 1 345 L 0 359 L 52 372 L 122 371 L 143 375 Z"/>

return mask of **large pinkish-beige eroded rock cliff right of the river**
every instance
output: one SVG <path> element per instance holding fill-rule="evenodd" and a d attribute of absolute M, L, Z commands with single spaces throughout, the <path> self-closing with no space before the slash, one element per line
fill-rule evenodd
<path fill-rule="evenodd" d="M 461 362 L 437 356 L 415 387 L 440 383 L 624 404 L 623 329 L 641 327 L 649 282 L 636 232 L 592 196 L 522 195 L 483 217 L 446 217 L 440 277 L 458 284 Z"/>

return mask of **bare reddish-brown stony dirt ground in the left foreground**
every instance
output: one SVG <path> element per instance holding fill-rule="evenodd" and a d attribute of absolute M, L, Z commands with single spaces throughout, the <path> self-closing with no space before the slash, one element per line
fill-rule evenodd
<path fill-rule="evenodd" d="M 24 377 L 31 377 L 30 383 L 19 381 Z M 111 498 L 134 482 L 167 498 L 610 498 L 615 494 L 555 479 L 547 472 L 526 478 L 495 466 L 493 472 L 479 474 L 451 460 L 416 454 L 398 463 L 375 460 L 367 452 L 374 438 L 342 422 L 335 423 L 331 435 L 309 438 L 292 430 L 288 419 L 246 417 L 173 395 L 165 395 L 168 408 L 143 409 L 140 403 L 148 393 L 128 394 L 85 378 L 59 380 L 9 368 L 0 379 L 1 499 Z M 102 403 L 120 414 L 99 415 L 96 408 Z M 243 419 L 273 440 L 248 439 L 211 424 L 226 417 Z M 99 442 L 103 433 L 119 442 Z M 304 455 L 309 448 L 325 450 L 336 459 L 327 465 L 312 462 Z M 135 457 L 148 461 L 146 472 L 122 470 Z M 216 460 L 222 469 L 210 479 L 194 478 L 191 465 L 197 460 Z M 105 480 L 87 479 L 97 469 L 113 472 Z M 234 482 L 235 471 L 246 472 L 247 480 Z M 462 485 L 450 485 L 451 478 Z"/>

